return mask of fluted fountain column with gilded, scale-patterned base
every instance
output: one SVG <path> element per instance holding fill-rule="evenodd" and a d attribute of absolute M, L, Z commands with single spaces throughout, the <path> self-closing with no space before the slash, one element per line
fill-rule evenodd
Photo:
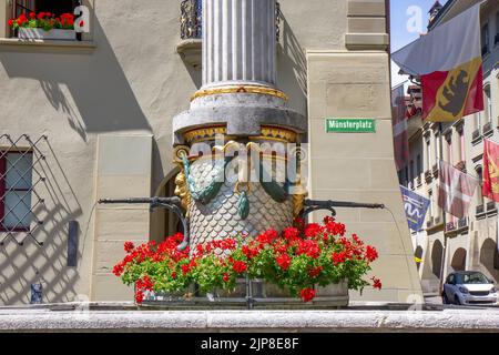
<path fill-rule="evenodd" d="M 173 120 L 191 250 L 283 230 L 303 209 L 296 146 L 307 122 L 276 87 L 275 19 L 275 0 L 203 0 L 203 85 Z"/>

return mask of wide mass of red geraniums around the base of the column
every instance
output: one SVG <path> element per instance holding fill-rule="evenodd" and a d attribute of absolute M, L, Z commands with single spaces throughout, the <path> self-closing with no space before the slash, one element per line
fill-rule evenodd
<path fill-rule="evenodd" d="M 282 233 L 269 230 L 256 239 L 221 239 L 194 251 L 177 250 L 182 234 L 159 245 L 128 242 L 126 256 L 113 273 L 124 284 L 135 285 L 138 304 L 151 293 L 161 294 L 170 303 L 220 294 L 221 302 L 230 297 L 244 302 L 248 285 L 252 296 L 266 297 L 271 303 L 313 303 L 368 285 L 381 288 L 378 278 L 371 277 L 371 283 L 364 280 L 378 257 L 376 248 L 355 234 L 345 234 L 344 224 L 326 217 L 324 224 L 296 221 Z"/>

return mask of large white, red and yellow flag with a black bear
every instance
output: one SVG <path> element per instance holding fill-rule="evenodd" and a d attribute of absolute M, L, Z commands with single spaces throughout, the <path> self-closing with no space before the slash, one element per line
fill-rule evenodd
<path fill-rule="evenodd" d="M 393 54 L 404 72 L 420 77 L 422 118 L 457 121 L 483 110 L 480 3 Z"/>

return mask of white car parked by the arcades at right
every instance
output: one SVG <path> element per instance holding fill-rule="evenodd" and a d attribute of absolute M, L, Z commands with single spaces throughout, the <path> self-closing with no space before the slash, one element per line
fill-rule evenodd
<path fill-rule="evenodd" d="M 477 271 L 454 272 L 447 276 L 441 294 L 444 304 L 497 304 L 493 282 Z"/>

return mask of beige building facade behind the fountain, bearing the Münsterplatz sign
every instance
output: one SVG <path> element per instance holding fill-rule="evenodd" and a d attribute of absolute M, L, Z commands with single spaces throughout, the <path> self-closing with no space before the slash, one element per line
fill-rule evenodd
<path fill-rule="evenodd" d="M 133 290 L 112 274 L 123 242 L 162 241 L 180 227 L 149 205 L 98 201 L 175 193 L 172 120 L 202 83 L 201 2 L 83 0 L 81 41 L 23 41 L 9 29 L 27 9 L 63 11 L 57 3 L 0 0 L 4 305 L 29 303 L 38 283 L 48 303 L 130 301 Z M 352 297 L 418 301 L 393 154 L 389 3 L 281 0 L 279 9 L 276 84 L 307 118 L 309 197 L 379 202 L 394 214 L 338 210 L 380 255 L 373 275 L 383 291 Z M 330 134 L 325 118 L 371 118 L 376 132 Z"/>

